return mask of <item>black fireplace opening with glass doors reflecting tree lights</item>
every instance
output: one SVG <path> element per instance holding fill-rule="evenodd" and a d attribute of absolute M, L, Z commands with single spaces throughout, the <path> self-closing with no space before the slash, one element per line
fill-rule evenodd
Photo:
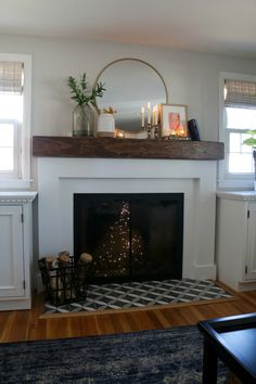
<path fill-rule="evenodd" d="M 75 193 L 74 255 L 92 282 L 182 278 L 183 193 Z"/>

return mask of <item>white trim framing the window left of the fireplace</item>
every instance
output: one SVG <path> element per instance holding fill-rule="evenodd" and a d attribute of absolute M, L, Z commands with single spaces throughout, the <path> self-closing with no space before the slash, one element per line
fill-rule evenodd
<path fill-rule="evenodd" d="M 0 178 L 0 189 L 29 189 L 30 179 L 30 123 L 31 123 L 31 55 L 0 53 L 0 61 L 18 61 L 24 63 L 23 124 L 21 132 L 21 177 Z"/>

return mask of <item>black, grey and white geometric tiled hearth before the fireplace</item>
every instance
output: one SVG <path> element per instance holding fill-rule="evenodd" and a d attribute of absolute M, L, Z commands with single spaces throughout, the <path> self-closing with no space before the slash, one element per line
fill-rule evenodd
<path fill-rule="evenodd" d="M 92 312 L 110 309 L 142 308 L 155 305 L 232 298 L 233 295 L 213 280 L 162 280 L 108 283 L 88 287 L 87 299 L 61 306 L 44 304 L 44 315 Z"/>

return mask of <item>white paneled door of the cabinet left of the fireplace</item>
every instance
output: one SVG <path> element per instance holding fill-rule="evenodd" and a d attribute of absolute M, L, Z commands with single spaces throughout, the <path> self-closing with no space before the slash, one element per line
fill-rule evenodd
<path fill-rule="evenodd" d="M 25 295 L 22 214 L 22 206 L 0 206 L 0 299 Z"/>

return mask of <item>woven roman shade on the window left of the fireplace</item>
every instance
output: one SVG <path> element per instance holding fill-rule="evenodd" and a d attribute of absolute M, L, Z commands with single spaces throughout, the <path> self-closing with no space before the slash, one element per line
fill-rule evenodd
<path fill-rule="evenodd" d="M 21 62 L 0 61 L 0 93 L 23 93 L 24 64 Z"/>

